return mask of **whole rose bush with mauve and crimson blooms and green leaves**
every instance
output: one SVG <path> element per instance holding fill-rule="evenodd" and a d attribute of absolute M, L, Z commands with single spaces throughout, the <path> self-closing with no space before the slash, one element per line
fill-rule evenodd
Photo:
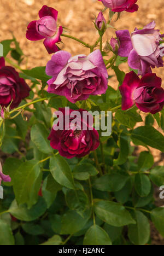
<path fill-rule="evenodd" d="M 152 151 L 164 153 L 164 90 L 151 73 L 163 67 L 163 35 L 151 22 L 104 42 L 112 19 L 138 5 L 102 3 L 93 44 L 62 33 L 57 10 L 42 7 L 26 37 L 45 38 L 44 67 L 24 69 L 16 38 L 1 42 L 0 245 L 150 245 L 151 222 L 164 237 L 154 197 L 164 168 Z M 63 37 L 88 55 L 60 50 Z"/>

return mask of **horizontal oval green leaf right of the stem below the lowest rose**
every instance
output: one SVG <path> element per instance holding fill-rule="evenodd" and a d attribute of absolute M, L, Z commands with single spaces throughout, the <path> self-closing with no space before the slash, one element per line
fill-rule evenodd
<path fill-rule="evenodd" d="M 106 174 L 96 179 L 93 183 L 93 188 L 109 192 L 119 191 L 124 187 L 128 178 L 129 176 L 120 173 Z"/>

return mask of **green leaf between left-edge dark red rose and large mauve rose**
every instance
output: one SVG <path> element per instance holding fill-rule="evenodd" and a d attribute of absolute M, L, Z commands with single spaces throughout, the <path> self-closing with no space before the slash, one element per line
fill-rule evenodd
<path fill-rule="evenodd" d="M 22 70 L 22 72 L 29 75 L 30 77 L 42 80 L 43 82 L 47 82 L 51 78 L 48 75 L 46 75 L 45 67 L 35 67 L 32 69 L 24 69 Z"/>

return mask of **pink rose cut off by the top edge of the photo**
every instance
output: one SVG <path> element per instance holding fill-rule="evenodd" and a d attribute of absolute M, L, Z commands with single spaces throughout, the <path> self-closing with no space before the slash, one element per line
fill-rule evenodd
<path fill-rule="evenodd" d="M 138 10 L 137 0 L 98 0 L 101 1 L 105 7 L 112 9 L 112 11 L 128 11 L 133 13 Z"/>

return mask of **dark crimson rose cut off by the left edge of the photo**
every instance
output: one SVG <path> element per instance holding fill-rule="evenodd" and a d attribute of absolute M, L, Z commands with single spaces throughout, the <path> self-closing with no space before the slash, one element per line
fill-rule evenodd
<path fill-rule="evenodd" d="M 4 57 L 0 59 L 0 105 L 10 109 L 19 106 L 22 99 L 29 96 L 30 88 L 25 80 L 19 77 L 19 73 L 13 67 L 5 66 Z M 1 109 L 3 117 L 3 109 Z"/>

